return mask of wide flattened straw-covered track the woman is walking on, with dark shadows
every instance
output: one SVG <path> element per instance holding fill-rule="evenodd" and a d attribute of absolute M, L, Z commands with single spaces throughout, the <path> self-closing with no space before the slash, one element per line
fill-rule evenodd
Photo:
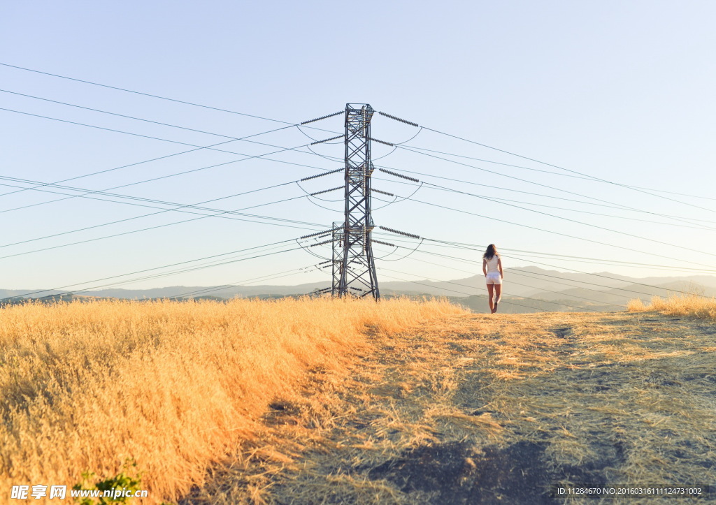
<path fill-rule="evenodd" d="M 184 503 L 716 501 L 559 492 L 716 484 L 713 323 L 465 315 L 372 339 L 347 375 L 276 398 L 260 443 Z"/>

